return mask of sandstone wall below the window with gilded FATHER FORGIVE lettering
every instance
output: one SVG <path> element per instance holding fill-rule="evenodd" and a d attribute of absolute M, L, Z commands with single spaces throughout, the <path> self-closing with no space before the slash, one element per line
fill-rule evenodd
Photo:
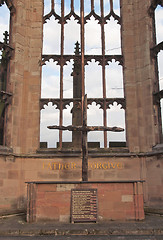
<path fill-rule="evenodd" d="M 89 158 L 90 181 L 145 180 L 145 206 L 161 207 L 163 158 Z M 27 181 L 81 181 L 80 157 L 13 156 L 0 157 L 0 213 L 25 211 Z"/>

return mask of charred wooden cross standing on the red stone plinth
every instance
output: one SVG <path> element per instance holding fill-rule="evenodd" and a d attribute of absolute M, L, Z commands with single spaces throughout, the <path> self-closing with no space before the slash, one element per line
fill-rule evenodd
<path fill-rule="evenodd" d="M 104 127 L 104 126 L 87 126 L 87 95 L 84 96 L 83 104 L 83 125 L 82 126 L 48 126 L 49 129 L 59 129 L 68 131 L 82 132 L 82 181 L 88 181 L 88 143 L 87 134 L 91 131 L 112 131 L 122 132 L 123 128 L 119 127 Z"/>

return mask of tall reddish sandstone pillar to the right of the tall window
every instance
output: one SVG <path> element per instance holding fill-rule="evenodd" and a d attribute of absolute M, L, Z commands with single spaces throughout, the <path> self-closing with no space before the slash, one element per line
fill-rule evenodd
<path fill-rule="evenodd" d="M 158 119 L 153 105 L 155 66 L 151 60 L 151 1 L 121 1 L 122 51 L 126 98 L 127 142 L 131 152 L 146 152 L 158 143 Z"/>

